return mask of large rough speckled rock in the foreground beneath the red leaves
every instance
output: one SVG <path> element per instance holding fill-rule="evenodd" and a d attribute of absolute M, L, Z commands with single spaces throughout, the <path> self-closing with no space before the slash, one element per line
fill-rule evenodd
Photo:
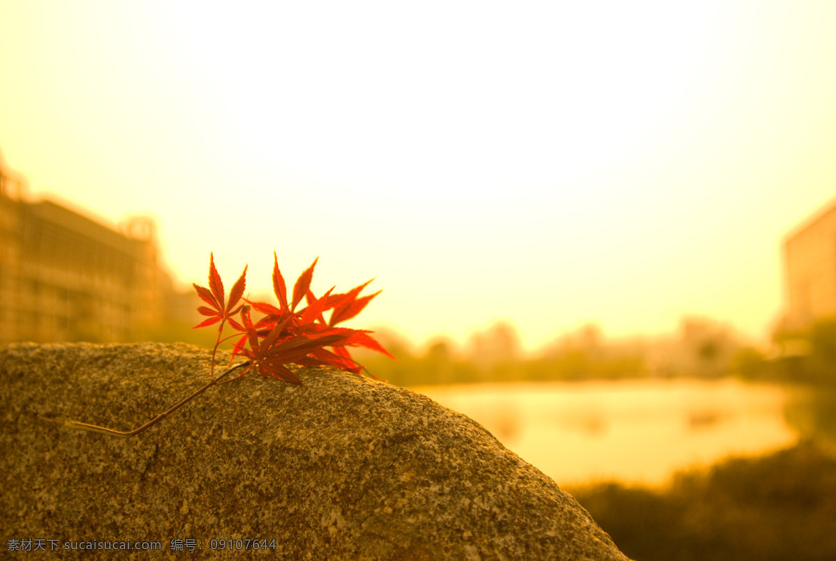
<path fill-rule="evenodd" d="M 49 421 L 131 430 L 208 381 L 210 357 L 185 344 L 0 349 L 0 550 L 148 540 L 161 542 L 152 558 L 626 559 L 476 422 L 334 370 L 299 370 L 307 389 L 247 375 L 129 439 Z M 220 555 L 213 538 L 275 549 Z"/>

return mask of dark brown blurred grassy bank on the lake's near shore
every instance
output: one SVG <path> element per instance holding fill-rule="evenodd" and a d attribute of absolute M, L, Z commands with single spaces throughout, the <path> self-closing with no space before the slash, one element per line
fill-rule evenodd
<path fill-rule="evenodd" d="M 664 491 L 566 490 L 636 561 L 836 559 L 836 458 L 812 441 L 681 472 Z"/>

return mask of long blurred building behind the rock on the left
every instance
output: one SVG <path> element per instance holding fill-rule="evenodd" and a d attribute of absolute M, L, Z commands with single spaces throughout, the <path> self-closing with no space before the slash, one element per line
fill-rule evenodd
<path fill-rule="evenodd" d="M 52 201 L 25 201 L 0 167 L 0 344 L 134 340 L 176 303 L 155 224 L 120 231 Z"/>

